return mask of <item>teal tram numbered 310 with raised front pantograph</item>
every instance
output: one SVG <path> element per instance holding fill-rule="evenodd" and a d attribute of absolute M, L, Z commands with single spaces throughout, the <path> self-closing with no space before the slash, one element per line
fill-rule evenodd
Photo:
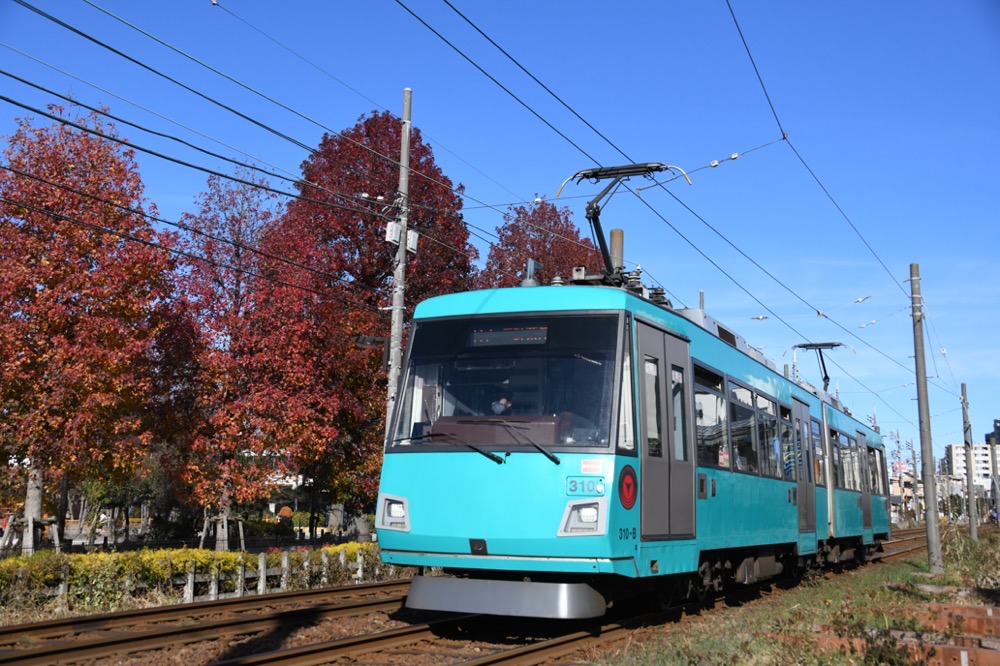
<path fill-rule="evenodd" d="M 880 550 L 879 433 L 601 245 L 602 276 L 417 307 L 375 517 L 407 606 L 596 617 Z"/>

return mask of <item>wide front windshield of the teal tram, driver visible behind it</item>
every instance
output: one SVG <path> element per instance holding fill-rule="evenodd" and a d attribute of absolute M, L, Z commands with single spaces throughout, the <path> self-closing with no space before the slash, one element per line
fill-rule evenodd
<path fill-rule="evenodd" d="M 607 446 L 618 322 L 617 315 L 418 322 L 390 448 Z"/>

